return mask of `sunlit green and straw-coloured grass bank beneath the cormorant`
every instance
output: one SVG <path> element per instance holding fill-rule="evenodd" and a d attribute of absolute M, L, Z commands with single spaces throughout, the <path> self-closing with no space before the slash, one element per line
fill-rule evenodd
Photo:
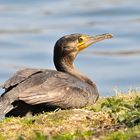
<path fill-rule="evenodd" d="M 0 140 L 139 140 L 140 92 L 100 98 L 82 109 L 56 110 L 0 122 Z"/>

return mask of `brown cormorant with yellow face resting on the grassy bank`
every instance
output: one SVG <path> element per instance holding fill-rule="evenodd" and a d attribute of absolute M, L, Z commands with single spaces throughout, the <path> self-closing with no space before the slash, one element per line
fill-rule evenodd
<path fill-rule="evenodd" d="M 57 71 L 30 68 L 17 71 L 2 86 L 5 92 L 0 97 L 0 117 L 94 104 L 99 96 L 96 85 L 81 74 L 73 62 L 83 49 L 112 37 L 111 34 L 71 34 L 60 38 L 53 57 Z"/>

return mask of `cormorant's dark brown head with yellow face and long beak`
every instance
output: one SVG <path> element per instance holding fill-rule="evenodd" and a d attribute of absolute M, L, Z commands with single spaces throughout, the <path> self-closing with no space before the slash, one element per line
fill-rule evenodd
<path fill-rule="evenodd" d="M 62 61 L 66 64 L 72 65 L 77 54 L 87 48 L 88 46 L 104 40 L 112 38 L 111 34 L 101 34 L 96 36 L 90 36 L 85 34 L 71 34 L 60 38 L 54 47 L 54 63 L 59 70 L 59 65 Z"/>

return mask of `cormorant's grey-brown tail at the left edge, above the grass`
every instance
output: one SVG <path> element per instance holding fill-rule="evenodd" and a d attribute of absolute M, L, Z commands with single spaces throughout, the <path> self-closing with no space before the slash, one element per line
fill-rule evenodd
<path fill-rule="evenodd" d="M 10 101 L 4 96 L 0 96 L 0 120 L 13 108 Z"/>

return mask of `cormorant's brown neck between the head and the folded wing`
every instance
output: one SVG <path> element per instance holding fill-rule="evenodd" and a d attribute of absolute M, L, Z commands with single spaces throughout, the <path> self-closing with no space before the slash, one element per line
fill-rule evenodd
<path fill-rule="evenodd" d="M 87 76 L 83 75 L 74 67 L 73 61 L 69 60 L 69 58 L 63 57 L 61 60 L 54 61 L 54 64 L 58 71 L 68 73 L 90 85 L 93 85 L 93 82 Z"/>

